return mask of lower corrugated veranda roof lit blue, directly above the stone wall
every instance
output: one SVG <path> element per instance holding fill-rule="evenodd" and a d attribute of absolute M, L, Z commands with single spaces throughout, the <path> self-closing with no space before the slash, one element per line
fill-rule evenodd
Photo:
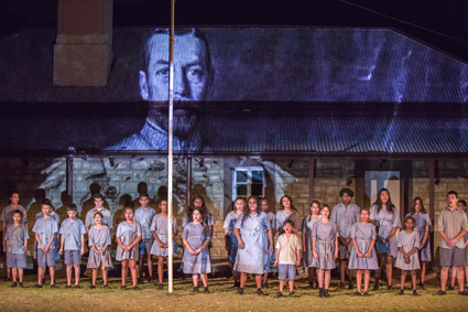
<path fill-rule="evenodd" d="M 166 119 L 155 119 L 166 122 Z M 383 153 L 467 154 L 467 118 L 411 117 L 175 117 L 175 129 L 192 129 L 188 153 Z M 0 151 L 166 150 L 167 136 L 141 117 L 1 118 Z M 133 136 L 132 136 L 133 135 Z M 127 139 L 126 139 L 127 138 Z M 177 141 L 177 139 L 176 139 Z M 181 140 L 182 141 L 182 140 Z"/>

